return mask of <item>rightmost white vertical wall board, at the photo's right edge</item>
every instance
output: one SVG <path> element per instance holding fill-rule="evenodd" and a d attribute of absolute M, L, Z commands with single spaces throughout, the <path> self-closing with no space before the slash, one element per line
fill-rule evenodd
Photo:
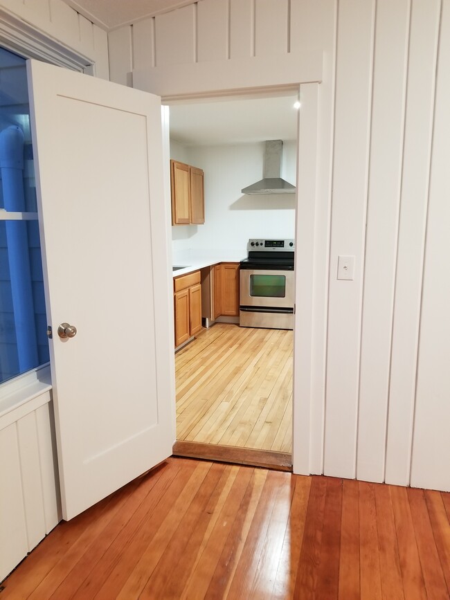
<path fill-rule="evenodd" d="M 450 3 L 442 10 L 411 485 L 450 491 Z"/>

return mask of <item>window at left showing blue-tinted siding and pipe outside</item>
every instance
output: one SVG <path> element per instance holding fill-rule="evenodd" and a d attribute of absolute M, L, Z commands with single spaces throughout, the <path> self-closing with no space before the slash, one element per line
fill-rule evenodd
<path fill-rule="evenodd" d="M 26 66 L 0 48 L 0 383 L 46 362 Z"/>

